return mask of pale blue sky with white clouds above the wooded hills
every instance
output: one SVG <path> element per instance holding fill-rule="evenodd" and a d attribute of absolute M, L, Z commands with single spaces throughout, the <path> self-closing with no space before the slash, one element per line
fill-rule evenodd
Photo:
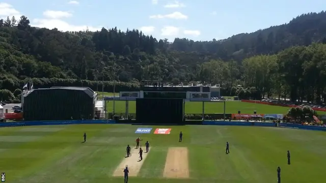
<path fill-rule="evenodd" d="M 287 23 L 325 5 L 325 0 L 0 0 L 0 18 L 24 15 L 32 26 L 60 31 L 117 27 L 170 42 L 210 41 Z"/>

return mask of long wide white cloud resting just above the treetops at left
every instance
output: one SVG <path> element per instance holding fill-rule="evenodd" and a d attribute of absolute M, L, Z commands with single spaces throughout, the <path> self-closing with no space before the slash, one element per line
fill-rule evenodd
<path fill-rule="evenodd" d="M 32 26 L 40 28 L 58 28 L 59 31 L 99 31 L 102 27 L 93 27 L 88 25 L 72 25 L 60 19 L 34 19 Z"/>

